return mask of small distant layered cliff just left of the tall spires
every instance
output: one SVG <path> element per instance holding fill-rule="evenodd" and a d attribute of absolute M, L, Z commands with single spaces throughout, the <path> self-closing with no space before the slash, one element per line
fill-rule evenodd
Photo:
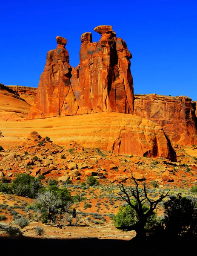
<path fill-rule="evenodd" d="M 32 105 L 34 102 L 37 88 L 18 85 L 6 85 L 6 87 L 9 87 L 11 90 L 17 92 L 20 98 L 24 99 L 28 104 Z"/>

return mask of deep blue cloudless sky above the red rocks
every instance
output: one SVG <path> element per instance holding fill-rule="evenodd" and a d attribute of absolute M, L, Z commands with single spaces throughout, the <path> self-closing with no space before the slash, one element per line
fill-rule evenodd
<path fill-rule="evenodd" d="M 197 100 L 196 0 L 34 0 L 0 4 L 0 83 L 37 87 L 56 36 L 79 64 L 80 36 L 112 25 L 133 55 L 134 93 Z"/>

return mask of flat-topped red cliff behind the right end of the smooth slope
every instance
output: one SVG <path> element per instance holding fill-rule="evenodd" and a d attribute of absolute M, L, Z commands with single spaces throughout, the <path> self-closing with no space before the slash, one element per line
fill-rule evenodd
<path fill-rule="evenodd" d="M 173 142 L 197 144 L 195 102 L 186 96 L 134 95 L 134 114 L 158 123 Z"/>

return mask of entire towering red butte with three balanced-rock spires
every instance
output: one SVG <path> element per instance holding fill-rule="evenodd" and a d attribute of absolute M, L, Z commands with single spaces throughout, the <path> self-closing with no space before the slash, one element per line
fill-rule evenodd
<path fill-rule="evenodd" d="M 69 64 L 67 40 L 57 36 L 57 48 L 47 53 L 37 95 L 27 119 L 95 112 L 133 113 L 131 53 L 112 26 L 97 26 L 101 34 L 92 43 L 90 32 L 81 36 L 80 64 Z"/>

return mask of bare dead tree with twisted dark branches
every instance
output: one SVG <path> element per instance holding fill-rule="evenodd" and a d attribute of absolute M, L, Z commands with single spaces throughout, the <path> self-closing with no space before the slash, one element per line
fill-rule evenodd
<path fill-rule="evenodd" d="M 124 226 L 121 228 L 127 229 L 127 230 L 135 230 L 136 231 L 136 238 L 138 239 L 145 239 L 146 240 L 146 230 L 145 226 L 148 222 L 148 218 L 151 217 L 153 214 L 153 211 L 156 209 L 157 205 L 168 196 L 168 193 L 162 193 L 160 197 L 157 200 L 151 201 L 150 198 L 148 198 L 147 192 L 146 192 L 146 182 L 144 183 L 143 189 L 139 189 L 139 184 L 137 183 L 136 179 L 133 177 L 133 173 L 131 172 L 131 177 L 134 180 L 135 183 L 135 189 L 134 188 L 124 188 L 123 184 L 119 184 L 120 191 L 124 193 L 123 195 L 120 195 L 117 193 L 123 201 L 125 201 L 128 205 L 130 205 L 131 208 L 135 210 L 135 212 L 138 215 L 139 220 L 135 224 L 134 227 L 131 226 Z M 131 196 L 134 198 L 134 201 L 130 199 L 130 195 L 128 192 L 131 192 Z M 149 210 L 147 212 L 143 211 L 143 204 L 145 201 L 148 201 L 149 203 Z"/>

